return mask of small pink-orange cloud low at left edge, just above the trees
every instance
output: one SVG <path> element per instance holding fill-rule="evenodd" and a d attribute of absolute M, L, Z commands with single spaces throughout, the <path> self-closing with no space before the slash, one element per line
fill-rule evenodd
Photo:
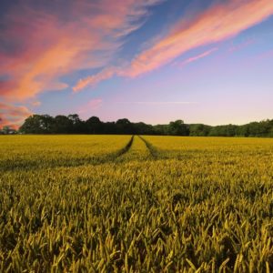
<path fill-rule="evenodd" d="M 27 116 L 31 116 L 32 112 L 25 106 L 11 106 L 0 103 L 0 128 L 9 126 L 18 129 Z"/>

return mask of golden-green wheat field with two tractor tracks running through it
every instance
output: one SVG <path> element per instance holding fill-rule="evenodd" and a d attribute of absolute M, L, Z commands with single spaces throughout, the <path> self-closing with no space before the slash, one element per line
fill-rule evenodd
<path fill-rule="evenodd" d="M 0 272 L 272 272 L 273 139 L 0 136 Z"/>

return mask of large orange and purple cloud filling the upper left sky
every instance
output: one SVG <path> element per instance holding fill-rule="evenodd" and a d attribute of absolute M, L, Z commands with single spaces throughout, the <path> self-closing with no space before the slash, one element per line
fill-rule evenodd
<path fill-rule="evenodd" d="M 57 1 L 42 6 L 25 0 L 14 5 L 0 19 L 0 41 L 5 41 L 0 47 L 0 76 L 5 76 L 0 96 L 23 101 L 66 88 L 61 76 L 106 66 L 122 45 L 122 35 L 139 27 L 136 19 L 158 1 L 83 0 L 66 1 L 65 6 Z"/>

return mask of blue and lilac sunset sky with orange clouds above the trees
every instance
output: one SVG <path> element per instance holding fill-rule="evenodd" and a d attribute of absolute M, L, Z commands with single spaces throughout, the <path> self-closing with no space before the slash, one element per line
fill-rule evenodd
<path fill-rule="evenodd" d="M 1 0 L 0 127 L 33 114 L 273 118 L 272 0 Z"/>

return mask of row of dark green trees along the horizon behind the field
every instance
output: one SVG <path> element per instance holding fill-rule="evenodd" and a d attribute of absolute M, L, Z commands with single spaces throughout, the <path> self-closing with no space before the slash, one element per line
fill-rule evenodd
<path fill-rule="evenodd" d="M 160 136 L 273 136 L 273 119 L 251 122 L 243 126 L 207 126 L 185 124 L 183 120 L 167 125 L 133 123 L 127 118 L 116 122 L 103 122 L 97 116 L 82 120 L 76 114 L 68 116 L 33 115 L 19 128 L 22 134 L 111 134 L 111 135 L 160 135 Z"/>

